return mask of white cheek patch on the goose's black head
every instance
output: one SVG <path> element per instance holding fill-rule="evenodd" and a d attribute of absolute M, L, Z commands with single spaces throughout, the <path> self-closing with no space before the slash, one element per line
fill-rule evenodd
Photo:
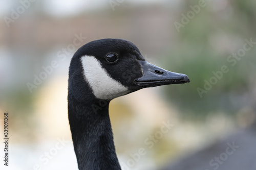
<path fill-rule="evenodd" d="M 81 57 L 83 74 L 96 98 L 111 100 L 127 94 L 128 88 L 111 78 L 94 56 Z"/>

